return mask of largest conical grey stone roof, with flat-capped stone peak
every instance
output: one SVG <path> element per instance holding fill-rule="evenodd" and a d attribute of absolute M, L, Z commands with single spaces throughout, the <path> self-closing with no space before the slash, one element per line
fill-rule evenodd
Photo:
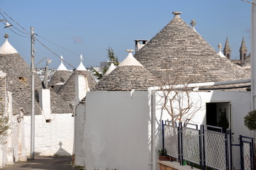
<path fill-rule="evenodd" d="M 190 28 L 180 13 L 162 28 L 135 58 L 160 81 L 209 82 L 247 79 L 250 73 L 220 57 L 211 45 Z"/>

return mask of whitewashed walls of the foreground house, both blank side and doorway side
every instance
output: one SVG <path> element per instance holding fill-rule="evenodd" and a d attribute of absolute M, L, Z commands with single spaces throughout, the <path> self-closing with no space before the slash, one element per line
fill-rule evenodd
<path fill-rule="evenodd" d="M 148 91 L 134 91 L 132 96 L 130 91 L 87 93 L 86 102 L 77 106 L 75 164 L 87 169 L 151 169 L 153 159 L 158 169 L 155 150 L 162 148 L 161 120 L 171 120 L 162 109 L 161 93 L 155 93 L 152 106 Z M 194 108 L 200 108 L 190 123 L 206 125 L 206 103 L 218 103 L 218 107 L 226 107 L 230 114 L 234 144 L 238 144 L 239 135 L 252 136 L 243 119 L 250 111 L 250 91 L 194 91 L 190 96 Z M 153 126 L 151 115 L 155 115 Z M 81 122 L 84 120 L 85 124 Z M 151 133 L 154 126 L 155 137 Z M 234 166 L 239 168 L 239 149 L 235 148 L 233 155 Z"/>

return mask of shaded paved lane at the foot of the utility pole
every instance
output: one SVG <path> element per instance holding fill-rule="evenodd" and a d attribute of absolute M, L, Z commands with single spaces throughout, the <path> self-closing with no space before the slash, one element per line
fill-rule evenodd
<path fill-rule="evenodd" d="M 28 159 L 27 162 L 16 162 L 14 165 L 5 166 L 2 170 L 77 170 L 72 167 L 71 161 L 72 157 L 35 157 L 34 160 Z"/>

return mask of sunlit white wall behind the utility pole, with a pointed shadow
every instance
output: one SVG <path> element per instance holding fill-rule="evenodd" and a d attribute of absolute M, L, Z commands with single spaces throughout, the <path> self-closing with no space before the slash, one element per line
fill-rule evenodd
<path fill-rule="evenodd" d="M 27 154 L 30 154 L 30 115 L 24 116 Z M 71 156 L 74 142 L 72 113 L 52 114 L 50 123 L 44 115 L 35 115 L 35 155 Z"/>

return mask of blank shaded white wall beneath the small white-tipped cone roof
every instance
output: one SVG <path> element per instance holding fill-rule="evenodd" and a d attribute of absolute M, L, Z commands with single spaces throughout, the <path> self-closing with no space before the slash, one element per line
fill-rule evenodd
<path fill-rule="evenodd" d="M 91 91 L 82 148 L 87 169 L 150 169 L 148 92 Z"/>

